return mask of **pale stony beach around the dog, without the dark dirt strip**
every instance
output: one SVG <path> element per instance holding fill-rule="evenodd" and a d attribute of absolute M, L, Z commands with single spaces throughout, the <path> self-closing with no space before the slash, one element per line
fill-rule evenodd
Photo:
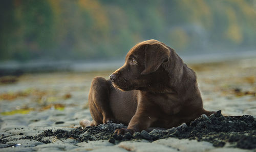
<path fill-rule="evenodd" d="M 223 115 L 256 117 L 256 59 L 241 59 L 217 63 L 189 64 L 198 76 L 204 107 L 221 110 Z M 114 70 L 113 70 L 114 71 Z M 80 142 L 44 137 L 40 141 L 21 139 L 36 136 L 48 129 L 72 131 L 81 119 L 91 119 L 87 108 L 88 92 L 93 77 L 108 76 L 113 71 L 90 73 L 25 74 L 7 83 L 0 81 L 0 149 L 1 151 L 253 151 L 226 144 L 187 139 L 124 141 L 112 144 L 108 140 Z M 8 142 L 3 142 L 8 140 Z M 50 143 L 44 143 L 50 141 Z M 172 144 L 170 144 L 172 143 Z M 103 149 L 102 149 L 103 148 Z"/>

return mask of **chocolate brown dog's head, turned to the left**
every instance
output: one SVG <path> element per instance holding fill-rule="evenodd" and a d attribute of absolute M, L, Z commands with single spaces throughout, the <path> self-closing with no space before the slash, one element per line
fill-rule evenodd
<path fill-rule="evenodd" d="M 124 65 L 110 75 L 114 86 L 122 91 L 146 90 L 156 79 L 162 63 L 170 58 L 170 50 L 157 40 L 143 41 L 126 55 Z"/>

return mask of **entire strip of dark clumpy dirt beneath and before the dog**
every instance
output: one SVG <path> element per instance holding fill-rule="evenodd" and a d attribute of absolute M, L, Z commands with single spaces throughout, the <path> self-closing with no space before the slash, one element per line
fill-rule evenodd
<path fill-rule="evenodd" d="M 22 139 L 34 139 L 44 143 L 51 141 L 42 141 L 43 137 L 55 136 L 56 138 L 73 138 L 78 142 L 89 140 L 109 140 L 111 143 L 120 141 L 145 139 L 155 141 L 168 137 L 178 139 L 196 139 L 198 141 L 208 141 L 216 147 L 223 147 L 226 142 L 231 146 L 253 149 L 256 148 L 256 119 L 249 115 L 243 116 L 223 116 L 221 111 L 209 117 L 202 115 L 200 118 L 192 121 L 189 126 L 182 124 L 170 129 L 154 129 L 152 132 L 136 132 L 133 135 L 125 133 L 116 135 L 114 132 L 117 128 L 126 127 L 123 124 L 109 123 L 101 124 L 94 127 L 76 128 L 72 131 L 47 130 L 37 136 L 25 136 Z M 1 138 L 1 143 L 8 142 Z"/>

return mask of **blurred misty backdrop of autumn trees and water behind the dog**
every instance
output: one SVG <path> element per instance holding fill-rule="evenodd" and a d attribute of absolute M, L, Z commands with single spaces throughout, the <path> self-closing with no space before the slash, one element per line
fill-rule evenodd
<path fill-rule="evenodd" d="M 255 8 L 253 0 L 1 1 L 0 68 L 119 67 L 147 39 L 184 61 L 256 56 Z"/>

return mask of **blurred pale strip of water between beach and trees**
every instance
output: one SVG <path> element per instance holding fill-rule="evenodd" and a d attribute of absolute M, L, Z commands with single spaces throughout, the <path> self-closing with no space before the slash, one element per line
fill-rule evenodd
<path fill-rule="evenodd" d="M 256 50 L 246 52 L 225 52 L 212 54 L 180 55 L 183 61 L 190 63 L 209 63 L 223 62 L 242 58 L 256 58 Z M 6 61 L 0 63 L 0 76 L 18 75 L 22 73 L 37 72 L 91 72 L 91 71 L 108 71 L 121 67 L 123 59 L 116 60 L 95 60 L 95 61 L 29 61 L 16 62 Z"/>

